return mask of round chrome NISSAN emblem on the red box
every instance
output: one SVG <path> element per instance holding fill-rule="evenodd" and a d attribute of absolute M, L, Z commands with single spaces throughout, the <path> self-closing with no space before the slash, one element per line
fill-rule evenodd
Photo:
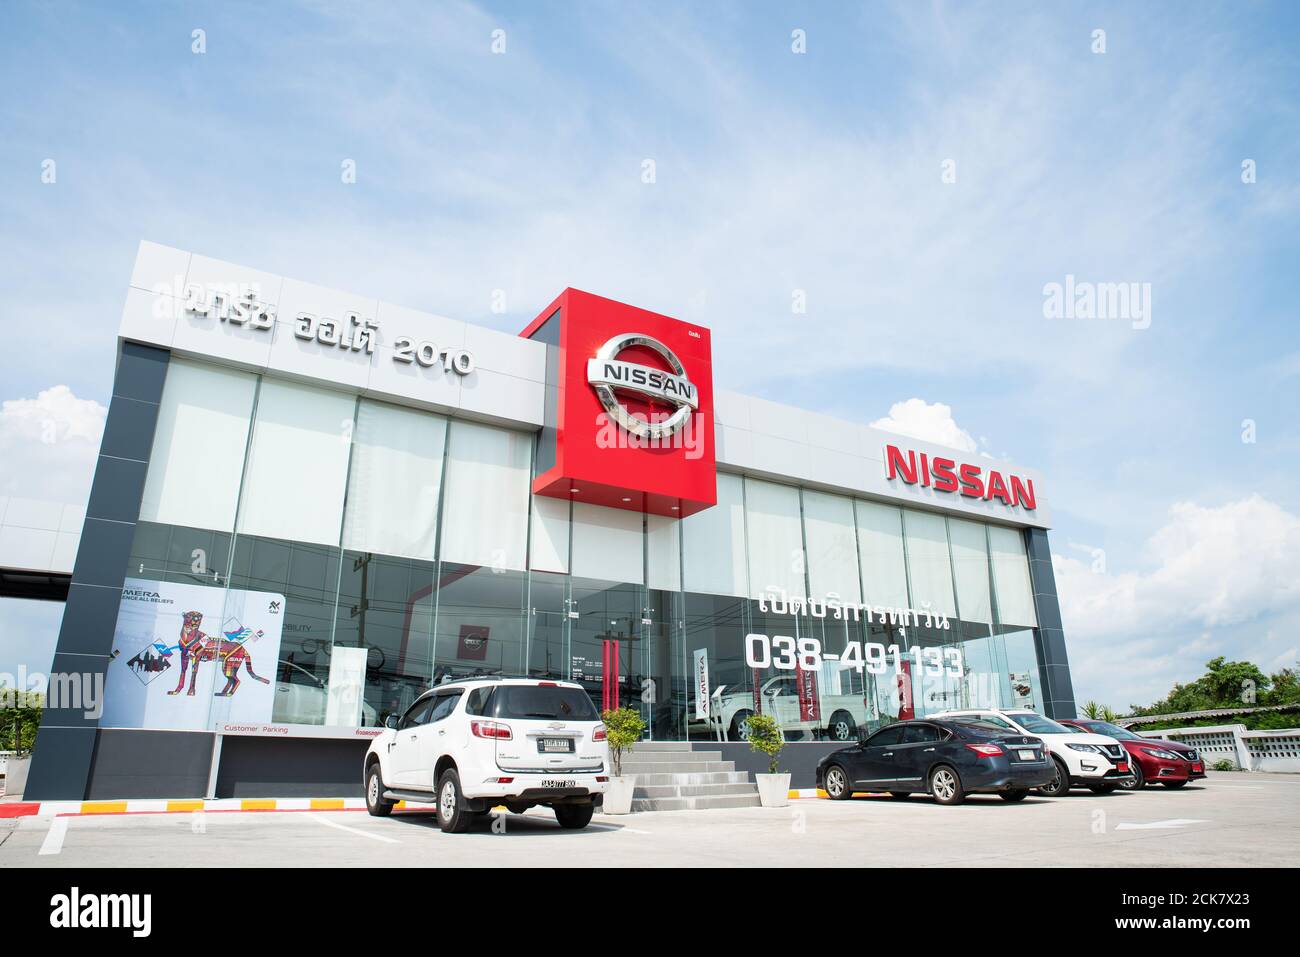
<path fill-rule="evenodd" d="M 672 372 L 621 361 L 619 355 L 633 346 L 654 350 L 663 356 Z M 595 389 L 601 404 L 614 421 L 642 438 L 662 439 L 675 434 L 699 407 L 699 393 L 686 378 L 681 360 L 658 339 L 640 333 L 619 333 L 601 346 L 595 358 L 586 360 L 586 381 Z M 673 407 L 672 415 L 655 423 L 634 416 L 619 402 L 620 391 L 664 402 Z"/>

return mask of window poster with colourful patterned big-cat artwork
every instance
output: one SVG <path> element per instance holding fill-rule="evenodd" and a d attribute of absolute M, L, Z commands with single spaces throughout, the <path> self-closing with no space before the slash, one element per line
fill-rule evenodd
<path fill-rule="evenodd" d="M 285 597 L 127 579 L 103 727 L 198 731 L 269 722 Z"/>

